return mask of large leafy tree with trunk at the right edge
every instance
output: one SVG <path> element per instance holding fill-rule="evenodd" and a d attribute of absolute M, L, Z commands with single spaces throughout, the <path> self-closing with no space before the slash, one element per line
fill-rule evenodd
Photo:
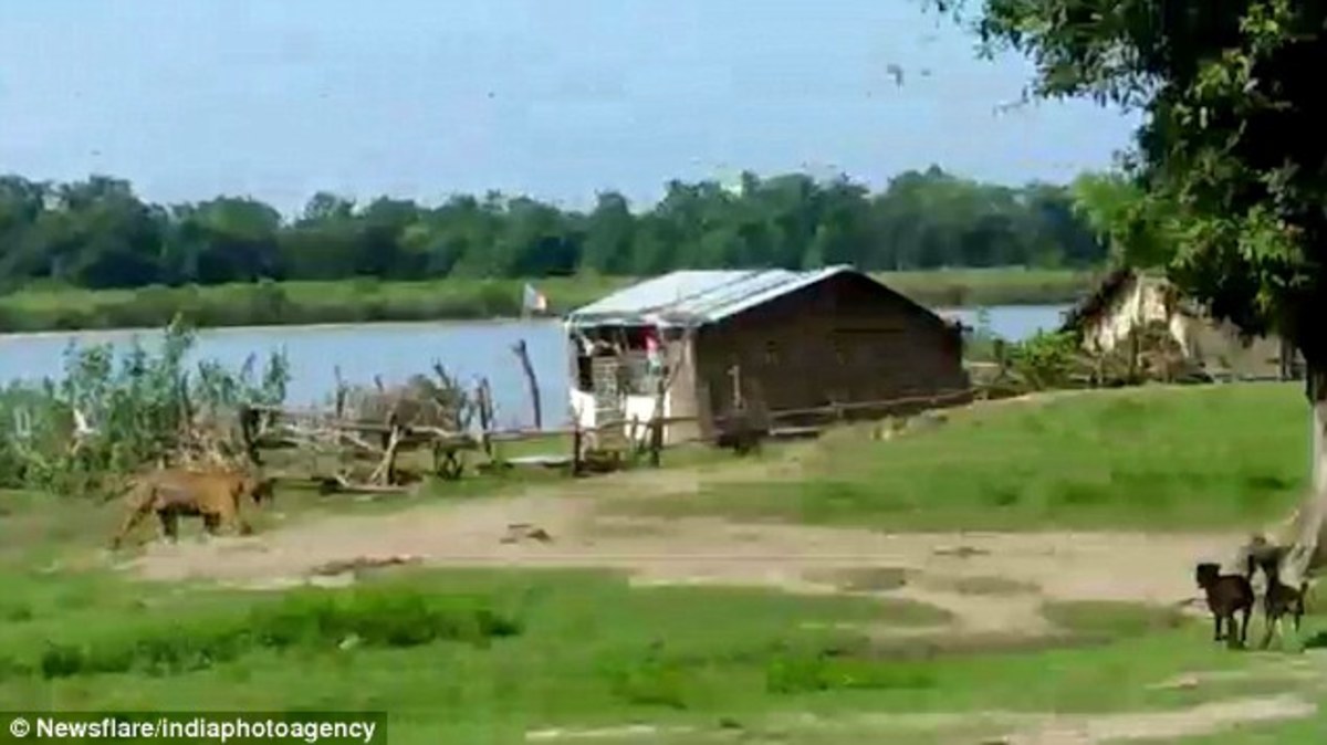
<path fill-rule="evenodd" d="M 962 0 L 937 0 L 966 21 Z M 1141 110 L 1131 175 L 1166 215 L 1166 269 L 1245 333 L 1307 366 L 1314 509 L 1327 506 L 1327 4 L 1310 0 L 982 0 L 987 52 L 1036 64 L 1046 98 Z M 1316 522 L 1316 524 L 1315 524 Z M 1304 524 L 1312 553 L 1320 517 Z M 1308 546 L 1307 544 L 1314 544 Z"/>

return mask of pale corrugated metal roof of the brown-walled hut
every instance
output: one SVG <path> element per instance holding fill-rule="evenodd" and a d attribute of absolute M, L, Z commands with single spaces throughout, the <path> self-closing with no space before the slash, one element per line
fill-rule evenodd
<path fill-rule="evenodd" d="M 577 326 L 630 322 L 703 326 L 845 272 L 856 269 L 847 265 L 811 272 L 683 269 L 573 310 L 567 322 Z"/>

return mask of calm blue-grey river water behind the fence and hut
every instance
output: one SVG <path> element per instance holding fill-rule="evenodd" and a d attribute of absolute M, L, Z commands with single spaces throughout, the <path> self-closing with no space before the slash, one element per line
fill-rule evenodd
<path fill-rule="evenodd" d="M 997 306 L 987 313 L 997 334 L 1022 339 L 1038 329 L 1058 326 L 1066 308 Z M 977 323 L 975 310 L 942 313 Z M 146 349 L 161 341 L 155 330 L 0 334 L 0 382 L 60 375 L 70 341 L 123 347 L 135 335 Z M 337 367 L 350 383 L 372 383 L 374 375 L 381 375 L 390 384 L 415 372 L 427 374 L 434 362 L 441 362 L 462 380 L 488 376 L 499 423 L 515 426 L 533 422 L 525 380 L 511 350 L 519 339 L 525 341 L 539 378 L 545 426 L 567 420 L 568 353 L 560 321 L 215 329 L 198 334 L 191 358 L 216 359 L 238 369 L 251 354 L 261 365 L 269 353 L 284 350 L 291 365 L 287 400 L 293 406 L 322 404 L 336 388 Z"/>

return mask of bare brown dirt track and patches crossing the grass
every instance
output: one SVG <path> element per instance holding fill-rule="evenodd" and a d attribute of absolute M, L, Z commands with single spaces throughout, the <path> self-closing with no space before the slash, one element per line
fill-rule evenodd
<path fill-rule="evenodd" d="M 703 479 L 750 479 L 752 473 L 739 469 L 752 467 L 734 464 Z M 687 498 L 698 490 L 699 479 L 683 471 L 621 473 L 541 487 L 507 498 L 301 521 L 249 538 L 153 544 L 123 569 L 150 579 L 208 578 L 281 587 L 308 582 L 333 562 L 393 557 L 433 566 L 614 567 L 626 570 L 638 583 L 759 585 L 796 593 L 851 589 L 913 599 L 949 611 L 953 620 L 909 634 L 1007 638 L 1054 632 L 1040 614 L 1047 599 L 1193 603 L 1197 589 L 1189 567 L 1206 557 L 1223 559 L 1245 537 L 1119 532 L 886 534 L 707 518 L 622 518 L 601 510 L 622 494 Z M 529 537 L 535 529 L 543 532 L 544 540 Z M 224 561 L 216 561 L 219 553 L 227 554 Z M 334 583 L 337 578 L 318 581 Z M 1312 675 L 1327 679 L 1327 660 L 1314 660 Z M 991 721 L 1010 732 L 997 741 L 1079 745 L 1204 734 L 1238 722 L 1312 716 L 1315 711 L 1312 703 L 1287 695 L 1166 713 L 991 715 Z M 971 715 L 954 718 L 973 721 Z M 892 717 L 889 726 L 906 722 Z M 531 738 L 613 741 L 650 734 L 633 732 L 545 732 L 531 733 Z"/>

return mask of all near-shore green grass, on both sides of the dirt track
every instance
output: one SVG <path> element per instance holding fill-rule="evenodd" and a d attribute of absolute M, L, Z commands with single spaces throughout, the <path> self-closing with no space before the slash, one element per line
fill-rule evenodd
<path fill-rule="evenodd" d="M 654 505 L 893 532 L 1247 528 L 1296 497 L 1303 408 L 1279 384 L 1005 402 L 896 441 L 853 427 L 775 445 L 760 460 L 795 457 L 800 479 Z M 433 496 L 449 489 L 482 498 L 467 485 Z M 1016 728 L 1020 715 L 1137 717 L 1327 691 L 1285 675 L 1304 669 L 1295 660 L 1322 668 L 1320 652 L 1229 654 L 1166 607 L 1046 599 L 1062 636 L 971 639 L 909 635 L 946 619 L 916 601 L 632 587 L 597 570 L 391 570 L 288 591 L 151 585 L 109 574 L 96 555 L 114 512 L 40 494 L 0 494 L 0 700 L 11 709 L 386 709 L 394 744 L 544 730 L 543 741 L 572 744 L 938 745 L 986 741 L 991 717 Z M 1311 612 L 1306 632 L 1320 640 L 1327 616 L 1316 603 Z M 1201 684 L 1166 685 L 1200 673 Z M 657 729 L 567 732 L 632 724 Z M 1308 745 L 1324 724 L 1170 742 Z"/>

